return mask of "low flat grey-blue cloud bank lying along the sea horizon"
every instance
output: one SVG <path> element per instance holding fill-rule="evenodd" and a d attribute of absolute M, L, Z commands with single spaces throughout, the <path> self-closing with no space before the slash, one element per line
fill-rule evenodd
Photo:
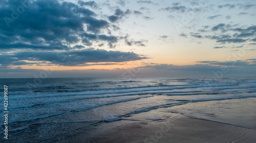
<path fill-rule="evenodd" d="M 232 63 L 231 63 L 232 64 Z M 160 65 L 146 65 L 137 67 L 140 72 L 136 75 L 151 75 L 151 76 L 176 76 L 176 77 L 216 77 L 213 72 L 221 71 L 222 67 L 225 67 L 228 72 L 223 73 L 223 77 L 228 76 L 253 76 L 255 77 L 256 67 L 255 66 L 220 66 L 220 65 L 208 65 L 208 64 L 196 64 L 186 66 L 175 66 L 168 64 Z M 0 67 L 1 68 L 1 67 Z M 26 70 L 26 71 L 25 71 Z M 39 72 L 38 70 L 30 69 L 1 69 L 4 72 Z M 102 77 L 102 76 L 121 76 L 123 73 L 127 73 L 126 69 L 115 69 L 115 70 L 72 70 L 72 71 L 53 71 L 51 77 Z M 26 73 L 26 75 L 27 75 Z M 3 75 L 3 74 L 2 74 Z M 5 73 L 5 77 L 13 77 L 16 73 Z M 3 76 L 2 76 L 3 77 Z M 33 74 L 31 74 L 33 77 Z"/>

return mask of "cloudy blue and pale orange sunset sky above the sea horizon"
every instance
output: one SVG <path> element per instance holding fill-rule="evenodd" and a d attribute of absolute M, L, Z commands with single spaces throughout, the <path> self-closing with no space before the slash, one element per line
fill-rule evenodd
<path fill-rule="evenodd" d="M 256 76 L 256 1 L 0 0 L 0 78 Z"/>

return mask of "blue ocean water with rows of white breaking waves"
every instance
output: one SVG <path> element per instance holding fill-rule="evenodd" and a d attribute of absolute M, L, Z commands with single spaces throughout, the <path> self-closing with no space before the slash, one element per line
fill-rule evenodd
<path fill-rule="evenodd" d="M 251 77 L 23 78 L 0 84 L 2 93 L 8 86 L 11 142 L 49 142 L 121 120 L 160 121 L 168 112 L 256 129 Z"/>

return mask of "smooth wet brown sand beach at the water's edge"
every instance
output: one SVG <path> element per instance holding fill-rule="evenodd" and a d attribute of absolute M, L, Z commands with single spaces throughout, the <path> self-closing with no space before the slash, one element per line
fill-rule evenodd
<path fill-rule="evenodd" d="M 256 142 L 256 130 L 178 115 L 153 122 L 121 120 L 101 124 L 62 139 L 65 142 Z"/>

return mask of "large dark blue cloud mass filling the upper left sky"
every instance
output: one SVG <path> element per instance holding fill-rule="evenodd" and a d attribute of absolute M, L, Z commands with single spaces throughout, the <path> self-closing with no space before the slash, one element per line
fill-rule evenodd
<path fill-rule="evenodd" d="M 0 15 L 4 17 L 0 19 L 0 48 L 67 49 L 65 45 L 79 41 L 92 45 L 98 40 L 97 35 L 110 25 L 108 21 L 95 18 L 97 15 L 93 11 L 73 3 L 28 2 L 28 9 L 22 14 L 15 12 L 16 15 L 12 9 L 16 10 L 20 4 L 3 2 L 0 9 Z M 93 1 L 78 3 L 96 6 Z M 84 35 L 87 32 L 92 34 Z"/>

